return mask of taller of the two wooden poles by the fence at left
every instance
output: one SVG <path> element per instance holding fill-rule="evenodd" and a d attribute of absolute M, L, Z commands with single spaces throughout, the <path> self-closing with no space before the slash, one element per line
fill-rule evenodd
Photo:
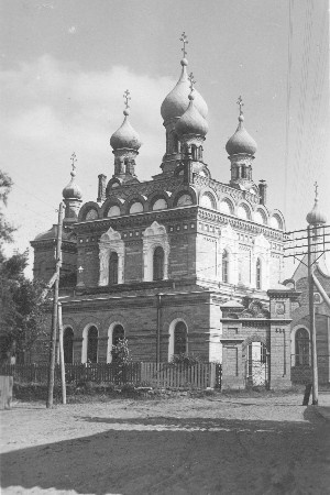
<path fill-rule="evenodd" d="M 55 265 L 55 284 L 54 284 L 54 298 L 53 298 L 53 317 L 52 317 L 52 334 L 51 334 L 51 349 L 50 349 L 50 369 L 48 369 L 48 396 L 47 408 L 53 407 L 54 399 L 54 377 L 55 377 L 55 351 L 56 351 L 56 333 L 58 321 L 58 287 L 59 287 L 59 270 L 62 265 L 62 229 L 63 229 L 63 204 L 59 204 L 58 208 L 58 223 L 57 223 L 57 243 L 56 243 L 56 265 Z"/>

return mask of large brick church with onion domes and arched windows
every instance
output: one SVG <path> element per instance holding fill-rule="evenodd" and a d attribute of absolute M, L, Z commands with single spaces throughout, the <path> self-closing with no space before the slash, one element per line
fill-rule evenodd
<path fill-rule="evenodd" d="M 112 175 L 98 176 L 97 200 L 82 201 L 75 166 L 63 190 L 65 360 L 111 363 L 124 336 L 134 361 L 185 353 L 221 362 L 223 386 L 283 388 L 290 385 L 298 297 L 280 285 L 284 217 L 267 205 L 266 183 L 253 177 L 257 146 L 241 98 L 226 144 L 228 176 L 212 178 L 204 160 L 208 107 L 187 66 L 184 57 L 161 107 L 161 172 L 139 179 L 143 153 L 125 91 L 124 119 L 110 138 Z M 54 273 L 56 230 L 31 242 L 36 278 Z"/>

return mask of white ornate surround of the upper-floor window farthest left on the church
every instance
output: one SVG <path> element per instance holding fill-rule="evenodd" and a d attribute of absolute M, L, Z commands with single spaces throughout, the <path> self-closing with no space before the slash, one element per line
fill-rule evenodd
<path fill-rule="evenodd" d="M 109 285 L 109 261 L 112 252 L 118 254 L 118 284 L 123 284 L 125 246 L 121 234 L 110 227 L 99 242 L 99 286 Z"/>

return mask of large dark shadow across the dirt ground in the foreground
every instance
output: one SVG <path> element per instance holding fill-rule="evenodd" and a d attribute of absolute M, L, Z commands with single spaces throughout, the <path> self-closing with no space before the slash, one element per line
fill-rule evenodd
<path fill-rule="evenodd" d="M 82 418 L 105 431 L 2 454 L 1 485 L 10 494 L 328 493 L 329 432 L 305 414 L 311 422 Z"/>

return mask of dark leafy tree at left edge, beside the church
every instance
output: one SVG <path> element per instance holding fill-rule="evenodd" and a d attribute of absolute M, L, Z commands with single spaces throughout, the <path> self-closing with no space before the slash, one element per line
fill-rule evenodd
<path fill-rule="evenodd" d="M 1 361 L 24 355 L 40 337 L 46 336 L 44 285 L 24 276 L 28 251 L 6 256 L 4 243 L 12 242 L 15 228 L 2 211 L 12 180 L 0 170 L 0 353 Z"/>

